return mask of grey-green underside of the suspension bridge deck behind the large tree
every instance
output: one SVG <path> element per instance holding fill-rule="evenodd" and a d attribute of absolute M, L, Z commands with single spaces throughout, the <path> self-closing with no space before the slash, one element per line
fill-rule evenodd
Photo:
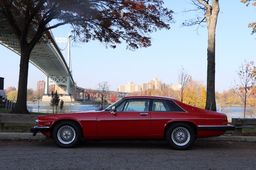
<path fill-rule="evenodd" d="M 1 18 L 1 15 L 0 15 Z M 9 48 L 13 52 L 21 55 L 19 41 L 15 37 L 12 29 L 0 20 L 0 44 Z M 5 56 L 2 56 L 5 57 Z M 35 65 L 47 76 L 68 76 L 69 69 L 66 61 L 58 49 L 57 44 L 45 41 L 39 42 L 32 50 L 29 62 Z M 70 75 L 70 85 L 74 84 Z"/>

